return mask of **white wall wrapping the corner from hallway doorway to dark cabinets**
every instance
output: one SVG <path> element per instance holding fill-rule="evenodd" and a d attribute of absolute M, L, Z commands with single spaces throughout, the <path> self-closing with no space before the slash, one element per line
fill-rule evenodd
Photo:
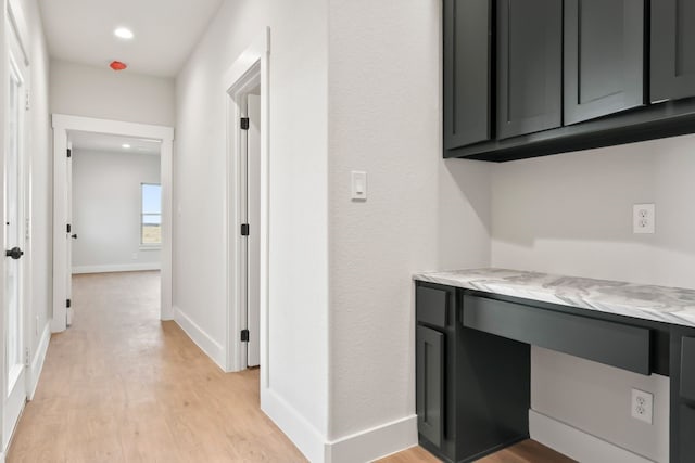
<path fill-rule="evenodd" d="M 226 285 L 219 89 L 270 26 L 268 366 L 299 420 L 269 413 L 312 461 L 416 443 L 412 273 L 490 263 L 491 166 L 441 158 L 439 3 L 227 2 L 177 79 L 174 300 L 214 350 Z M 364 204 L 349 198 L 353 169 L 369 173 Z"/>

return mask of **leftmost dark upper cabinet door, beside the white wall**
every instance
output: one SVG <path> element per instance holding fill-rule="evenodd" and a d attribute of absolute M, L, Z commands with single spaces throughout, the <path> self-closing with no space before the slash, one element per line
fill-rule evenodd
<path fill-rule="evenodd" d="M 490 140 L 491 1 L 444 0 L 444 147 Z"/>

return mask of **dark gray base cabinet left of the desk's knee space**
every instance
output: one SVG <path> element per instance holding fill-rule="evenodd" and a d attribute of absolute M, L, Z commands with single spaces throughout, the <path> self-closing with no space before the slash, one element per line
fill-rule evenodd
<path fill-rule="evenodd" d="M 460 290 L 417 283 L 419 443 L 447 462 L 529 437 L 529 345 L 464 327 L 462 304 Z"/>

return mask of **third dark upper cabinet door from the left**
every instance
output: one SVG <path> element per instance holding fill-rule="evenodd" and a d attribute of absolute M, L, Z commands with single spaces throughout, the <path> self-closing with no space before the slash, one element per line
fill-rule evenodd
<path fill-rule="evenodd" d="M 644 0 L 565 0 L 565 125 L 642 105 Z"/>

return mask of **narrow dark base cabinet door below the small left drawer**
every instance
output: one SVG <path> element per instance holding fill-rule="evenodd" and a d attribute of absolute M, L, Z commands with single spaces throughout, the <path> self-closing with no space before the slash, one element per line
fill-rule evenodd
<path fill-rule="evenodd" d="M 444 437 L 444 334 L 418 325 L 416 409 L 419 433 L 437 447 Z"/>

